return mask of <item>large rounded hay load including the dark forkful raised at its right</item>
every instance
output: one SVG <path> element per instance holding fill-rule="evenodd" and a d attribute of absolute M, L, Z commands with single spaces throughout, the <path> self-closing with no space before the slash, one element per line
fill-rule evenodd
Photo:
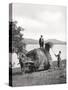
<path fill-rule="evenodd" d="M 50 48 L 52 44 L 50 42 L 45 43 L 45 48 L 37 48 L 29 51 L 26 56 L 31 58 L 34 62 L 37 70 L 49 69 L 51 66 L 52 58 L 50 55 Z"/>

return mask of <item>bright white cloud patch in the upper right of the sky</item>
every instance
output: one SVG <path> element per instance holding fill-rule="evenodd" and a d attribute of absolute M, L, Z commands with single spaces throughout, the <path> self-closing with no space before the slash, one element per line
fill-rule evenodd
<path fill-rule="evenodd" d="M 43 22 L 56 22 L 62 17 L 61 12 L 42 11 L 37 14 L 37 18 Z"/>

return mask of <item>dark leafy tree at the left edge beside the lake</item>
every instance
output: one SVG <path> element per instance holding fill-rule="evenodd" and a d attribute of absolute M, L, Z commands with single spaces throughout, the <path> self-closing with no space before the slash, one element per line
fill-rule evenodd
<path fill-rule="evenodd" d="M 22 52 L 23 47 L 25 47 L 25 43 L 22 42 L 23 34 L 21 34 L 21 31 L 24 30 L 24 28 L 18 26 L 17 22 L 9 22 L 9 52 L 12 52 L 13 49 L 17 49 L 18 52 Z"/>

